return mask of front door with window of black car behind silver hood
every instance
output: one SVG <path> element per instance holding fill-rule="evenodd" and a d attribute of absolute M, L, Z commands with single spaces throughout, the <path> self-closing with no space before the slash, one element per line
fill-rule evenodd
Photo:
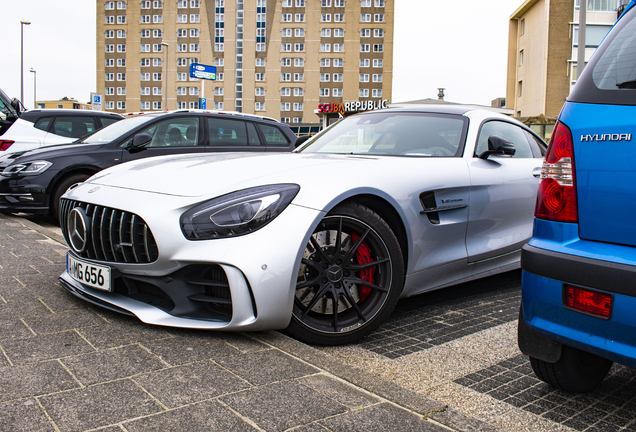
<path fill-rule="evenodd" d="M 152 141 L 139 152 L 130 153 L 125 150 L 132 143 L 133 136 L 122 144 L 122 162 L 164 156 L 171 154 L 205 152 L 201 137 L 201 122 L 198 116 L 171 117 L 160 120 L 135 132 L 135 135 L 145 133 L 152 137 Z"/>

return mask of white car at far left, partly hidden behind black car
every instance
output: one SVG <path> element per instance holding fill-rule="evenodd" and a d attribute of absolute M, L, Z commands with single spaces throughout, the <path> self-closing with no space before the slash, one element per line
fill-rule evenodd
<path fill-rule="evenodd" d="M 25 111 L 0 135 L 0 154 L 70 143 L 123 118 L 116 113 L 79 109 Z"/>

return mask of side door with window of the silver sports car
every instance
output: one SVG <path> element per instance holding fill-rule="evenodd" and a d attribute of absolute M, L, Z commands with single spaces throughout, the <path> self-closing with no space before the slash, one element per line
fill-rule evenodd
<path fill-rule="evenodd" d="M 500 136 L 515 146 L 514 156 L 478 155 L 488 149 L 488 138 Z M 468 262 L 477 262 L 518 250 L 532 235 L 541 153 L 532 135 L 519 125 L 485 121 L 469 162 L 471 190 L 466 231 Z M 534 150 L 534 151 L 533 151 Z"/>

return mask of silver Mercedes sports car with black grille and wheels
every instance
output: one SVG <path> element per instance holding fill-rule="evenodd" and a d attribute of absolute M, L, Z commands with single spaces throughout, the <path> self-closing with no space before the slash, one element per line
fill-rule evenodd
<path fill-rule="evenodd" d="M 404 106 L 294 153 L 129 162 L 63 196 L 60 280 L 146 323 L 353 342 L 399 298 L 518 268 L 544 152 L 489 110 Z"/>

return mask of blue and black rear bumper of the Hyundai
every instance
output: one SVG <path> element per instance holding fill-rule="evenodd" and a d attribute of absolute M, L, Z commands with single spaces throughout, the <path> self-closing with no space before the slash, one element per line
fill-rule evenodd
<path fill-rule="evenodd" d="M 523 319 L 532 331 L 636 368 L 636 266 L 526 245 L 521 267 Z M 564 283 L 612 294 L 611 318 L 566 309 Z"/>

